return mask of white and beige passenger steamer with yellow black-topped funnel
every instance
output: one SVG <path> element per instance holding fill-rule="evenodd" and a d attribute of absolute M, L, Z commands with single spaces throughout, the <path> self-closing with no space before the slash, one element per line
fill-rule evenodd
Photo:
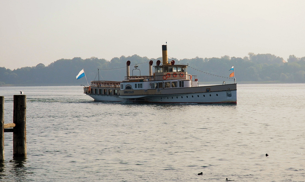
<path fill-rule="evenodd" d="M 131 62 L 127 61 L 123 81 L 90 81 L 90 86 L 84 86 L 84 94 L 94 101 L 110 102 L 237 103 L 235 77 L 234 84 L 223 81 L 219 85 L 199 86 L 197 76 L 188 74 L 188 65 L 175 64 L 167 57 L 167 45 L 162 45 L 162 64 L 157 60 L 152 66 L 153 61 L 150 60 L 149 75 L 130 75 Z"/>

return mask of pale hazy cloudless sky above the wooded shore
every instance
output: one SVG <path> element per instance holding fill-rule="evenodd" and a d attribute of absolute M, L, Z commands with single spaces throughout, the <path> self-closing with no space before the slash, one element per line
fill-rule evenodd
<path fill-rule="evenodd" d="M 305 1 L 0 0 L 0 67 L 65 58 L 305 56 Z"/>

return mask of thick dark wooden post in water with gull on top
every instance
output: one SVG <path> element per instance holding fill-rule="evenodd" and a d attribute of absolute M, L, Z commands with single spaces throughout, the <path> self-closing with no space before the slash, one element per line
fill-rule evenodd
<path fill-rule="evenodd" d="M 26 95 L 14 95 L 13 157 L 27 156 Z"/>

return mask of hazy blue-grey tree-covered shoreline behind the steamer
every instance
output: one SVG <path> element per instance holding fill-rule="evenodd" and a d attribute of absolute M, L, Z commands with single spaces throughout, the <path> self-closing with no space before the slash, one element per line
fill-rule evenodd
<path fill-rule="evenodd" d="M 188 74 L 197 75 L 200 82 L 232 83 L 228 79 L 229 71 L 234 64 L 236 82 L 242 83 L 305 83 L 305 57 L 290 55 L 287 62 L 272 54 L 249 53 L 244 58 L 223 56 L 221 58 L 200 58 L 175 60 L 175 64 L 188 64 Z M 147 57 L 121 56 L 111 61 L 91 57 L 82 59 L 60 59 L 48 66 L 38 64 L 34 67 L 22 67 L 15 70 L 0 67 L 0 86 L 47 86 L 47 85 L 87 85 L 85 77 L 76 80 L 76 75 L 84 68 L 90 84 L 93 80 L 122 81 L 126 76 L 126 61 L 131 61 L 130 74 L 148 75 L 149 60 L 156 65 L 157 59 Z M 144 64 L 141 64 L 144 63 Z M 133 70 L 134 64 L 139 70 Z M 98 69 L 99 74 L 98 74 Z M 99 75 L 99 76 L 98 76 Z M 220 84 L 221 84 L 220 83 Z"/>

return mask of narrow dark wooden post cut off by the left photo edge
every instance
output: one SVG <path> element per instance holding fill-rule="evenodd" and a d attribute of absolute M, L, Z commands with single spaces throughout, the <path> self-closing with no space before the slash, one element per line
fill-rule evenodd
<path fill-rule="evenodd" d="M 4 96 L 0 96 L 0 163 L 4 162 Z"/>

